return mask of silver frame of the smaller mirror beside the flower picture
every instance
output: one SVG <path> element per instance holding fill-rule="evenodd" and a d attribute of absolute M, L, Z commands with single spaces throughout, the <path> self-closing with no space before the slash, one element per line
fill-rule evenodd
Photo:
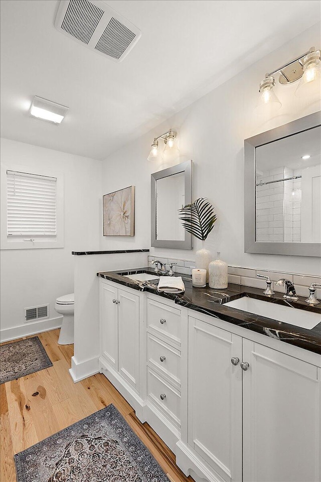
<path fill-rule="evenodd" d="M 192 234 L 185 231 L 184 241 L 174 239 L 156 239 L 156 181 L 164 177 L 185 172 L 185 204 L 192 203 L 192 160 L 182 162 L 163 171 L 151 174 L 151 246 L 154 248 L 173 248 L 176 250 L 191 250 Z"/>

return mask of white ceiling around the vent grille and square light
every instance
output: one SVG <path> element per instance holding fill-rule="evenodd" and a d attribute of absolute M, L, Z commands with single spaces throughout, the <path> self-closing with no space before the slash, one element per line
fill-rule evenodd
<path fill-rule="evenodd" d="M 122 63 L 54 27 L 58 0 L 2 0 L 2 137 L 104 159 L 313 25 L 318 0 L 108 0 L 142 32 Z M 234 62 L 234 65 L 233 65 Z M 224 72 L 224 78 L 222 77 Z M 70 107 L 28 116 L 33 95 Z"/>

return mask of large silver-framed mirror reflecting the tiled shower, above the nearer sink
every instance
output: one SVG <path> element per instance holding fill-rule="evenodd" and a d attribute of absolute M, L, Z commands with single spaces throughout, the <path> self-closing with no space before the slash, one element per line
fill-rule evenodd
<path fill-rule="evenodd" d="M 321 256 L 321 112 L 244 141 L 245 253 Z"/>

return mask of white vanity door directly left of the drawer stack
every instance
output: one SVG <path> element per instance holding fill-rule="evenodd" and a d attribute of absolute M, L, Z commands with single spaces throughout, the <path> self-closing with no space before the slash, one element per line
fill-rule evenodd
<path fill-rule="evenodd" d="M 138 391 L 139 296 L 118 290 L 118 371 Z"/>

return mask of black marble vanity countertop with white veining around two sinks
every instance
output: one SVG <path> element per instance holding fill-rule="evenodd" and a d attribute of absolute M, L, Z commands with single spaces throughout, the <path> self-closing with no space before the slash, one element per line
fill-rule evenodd
<path fill-rule="evenodd" d="M 321 354 L 321 303 L 316 306 L 308 305 L 304 301 L 304 297 L 299 297 L 298 301 L 289 302 L 284 300 L 283 293 L 276 292 L 275 295 L 269 297 L 263 295 L 261 289 L 232 283 L 229 283 L 226 290 L 214 290 L 208 286 L 206 288 L 195 288 L 192 286 L 192 277 L 180 273 L 176 273 L 175 275 L 182 276 L 185 283 L 185 293 L 158 293 L 157 286 L 152 282 L 137 282 L 122 276 L 125 274 L 134 274 L 135 271 L 144 271 L 150 274 L 154 273 L 153 270 L 149 268 L 137 268 L 137 270 L 130 270 L 128 272 L 125 272 L 124 270 L 101 272 L 97 273 L 97 276 L 109 281 L 114 281 L 115 283 L 119 283 L 134 290 L 157 294 L 158 296 L 171 299 L 175 301 L 176 304 L 185 306 L 186 308 L 220 318 L 221 320 L 228 321 L 234 325 L 242 326 L 243 328 L 278 339 L 285 343 L 290 343 L 300 348 Z M 119 275 L 119 272 L 121 272 L 122 275 Z M 320 323 L 311 330 L 308 330 L 224 305 L 227 301 L 236 300 L 242 296 L 250 296 L 251 298 L 264 301 L 269 300 L 272 303 L 277 303 L 283 306 L 291 306 L 292 308 L 319 313 Z"/>

